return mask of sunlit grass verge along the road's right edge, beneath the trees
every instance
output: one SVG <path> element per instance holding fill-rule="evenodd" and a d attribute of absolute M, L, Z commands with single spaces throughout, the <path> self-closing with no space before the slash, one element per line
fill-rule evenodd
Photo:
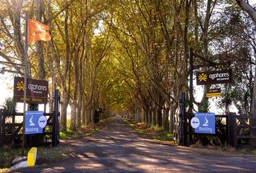
<path fill-rule="evenodd" d="M 174 141 L 174 135 L 168 133 L 161 127 L 155 125 L 146 125 L 145 123 L 135 123 L 133 120 L 125 119 L 129 125 L 134 128 L 137 133 L 145 138 L 151 138 L 154 141 L 159 141 L 161 143 L 176 143 Z"/>

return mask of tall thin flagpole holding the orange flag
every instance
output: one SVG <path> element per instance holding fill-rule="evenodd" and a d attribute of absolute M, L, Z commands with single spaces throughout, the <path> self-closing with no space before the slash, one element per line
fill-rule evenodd
<path fill-rule="evenodd" d="M 25 115 L 26 115 L 26 99 L 27 99 L 27 13 L 25 18 L 25 69 L 24 69 L 24 94 L 23 94 L 23 132 L 22 132 L 22 156 L 24 156 L 25 148 Z"/>

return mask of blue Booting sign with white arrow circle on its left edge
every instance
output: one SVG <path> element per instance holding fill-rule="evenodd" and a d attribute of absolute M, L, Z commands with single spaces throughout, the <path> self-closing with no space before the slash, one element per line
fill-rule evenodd
<path fill-rule="evenodd" d="M 195 117 L 190 121 L 192 128 L 195 128 L 195 133 L 216 133 L 215 113 L 197 112 Z"/>

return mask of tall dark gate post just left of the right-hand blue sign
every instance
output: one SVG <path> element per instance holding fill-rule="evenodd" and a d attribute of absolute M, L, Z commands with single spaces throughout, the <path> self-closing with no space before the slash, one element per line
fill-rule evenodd
<path fill-rule="evenodd" d="M 179 105 L 180 105 L 180 128 L 181 128 L 181 132 L 180 132 L 180 137 L 179 137 L 179 144 L 182 146 L 186 146 L 187 145 L 187 125 L 185 123 L 186 122 L 186 118 L 185 118 L 185 93 L 182 92 L 181 96 L 180 96 L 180 100 L 179 100 Z"/>

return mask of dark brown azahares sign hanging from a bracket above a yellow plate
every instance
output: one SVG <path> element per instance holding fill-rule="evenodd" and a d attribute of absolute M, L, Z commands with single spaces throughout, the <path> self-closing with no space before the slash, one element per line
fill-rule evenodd
<path fill-rule="evenodd" d="M 231 70 L 197 72 L 197 85 L 231 83 Z"/>

